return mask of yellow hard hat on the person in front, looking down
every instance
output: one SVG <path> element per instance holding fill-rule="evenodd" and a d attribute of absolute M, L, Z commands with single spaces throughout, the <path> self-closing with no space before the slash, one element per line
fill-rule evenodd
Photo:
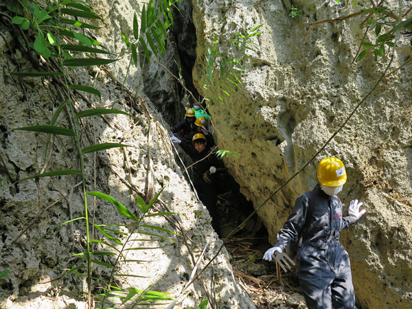
<path fill-rule="evenodd" d="M 318 165 L 317 176 L 321 185 L 338 187 L 346 182 L 345 165 L 343 165 L 343 162 L 338 158 L 325 158 Z"/>

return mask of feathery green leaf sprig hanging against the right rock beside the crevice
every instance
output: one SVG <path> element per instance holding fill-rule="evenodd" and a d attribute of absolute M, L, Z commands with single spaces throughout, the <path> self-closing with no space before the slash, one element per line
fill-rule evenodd
<path fill-rule="evenodd" d="M 205 65 L 201 65 L 206 100 L 209 102 L 224 102 L 223 98 L 230 98 L 231 93 L 237 93 L 242 84 L 239 74 L 244 72 L 242 69 L 244 60 L 250 59 L 247 51 L 256 52 L 252 48 L 256 44 L 251 41 L 251 38 L 260 35 L 260 32 L 258 32 L 260 27 L 262 25 L 258 25 L 250 31 L 244 30 L 244 34 L 234 34 L 234 38 L 229 40 L 234 49 L 233 56 L 230 58 L 220 54 L 218 39 L 215 37 L 213 46 L 207 48 Z"/>

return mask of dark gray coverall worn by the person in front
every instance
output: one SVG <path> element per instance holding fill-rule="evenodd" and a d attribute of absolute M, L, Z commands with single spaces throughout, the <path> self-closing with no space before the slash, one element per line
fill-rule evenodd
<path fill-rule="evenodd" d="M 306 218 L 310 198 L 312 218 Z M 320 185 L 297 198 L 275 247 L 284 250 L 303 233 L 298 276 L 308 308 L 356 308 L 349 255 L 339 242 L 339 232 L 355 222 L 342 217 L 341 200 L 325 194 Z"/>

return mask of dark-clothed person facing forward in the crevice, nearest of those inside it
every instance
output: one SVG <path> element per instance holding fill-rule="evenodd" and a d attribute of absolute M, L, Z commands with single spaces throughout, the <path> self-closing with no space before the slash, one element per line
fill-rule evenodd
<path fill-rule="evenodd" d="M 211 226 L 220 236 L 216 203 L 218 193 L 222 187 L 220 172 L 218 172 L 218 168 L 222 167 L 222 163 L 211 151 L 211 148 L 207 146 L 207 139 L 203 133 L 196 133 L 192 137 L 192 143 L 182 139 L 180 144 L 183 150 L 196 162 L 193 184 L 199 198 L 209 211 L 212 218 Z"/>

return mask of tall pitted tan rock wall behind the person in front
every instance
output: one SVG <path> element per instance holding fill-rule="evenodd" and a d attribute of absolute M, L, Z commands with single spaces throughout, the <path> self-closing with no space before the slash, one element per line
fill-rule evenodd
<path fill-rule="evenodd" d="M 345 122 L 371 90 L 391 54 L 354 57 L 363 37 L 365 15 L 321 23 L 306 22 L 358 12 L 371 1 L 229 1 L 195 0 L 197 34 L 194 80 L 204 78 L 207 47 L 233 54 L 236 32 L 261 25 L 251 41 L 256 52 L 242 65 L 243 87 L 224 103 L 210 104 L 220 149 L 240 157 L 226 159 L 231 174 L 255 207 L 295 174 Z M 411 7 L 402 2 L 402 12 Z M 293 19 L 291 7 L 301 10 Z M 398 12 L 398 2 L 389 1 Z M 308 32 L 306 34 L 306 32 Z M 371 32 L 374 33 L 374 32 Z M 374 39 L 374 34 L 369 34 Z M 410 38 L 398 37 L 387 73 L 412 56 Z M 218 74 L 215 75 L 216 84 Z M 347 183 L 339 197 L 344 211 L 363 201 L 367 214 L 341 233 L 350 254 L 356 300 L 361 308 L 411 308 L 412 302 L 412 69 L 411 63 L 383 80 L 359 106 L 342 130 L 308 167 L 273 196 L 258 214 L 270 241 L 290 214 L 295 198 L 317 183 L 317 163 L 328 156 L 342 159 Z M 196 87 L 205 96 L 201 82 Z M 214 89 L 214 91 L 216 91 Z"/>

